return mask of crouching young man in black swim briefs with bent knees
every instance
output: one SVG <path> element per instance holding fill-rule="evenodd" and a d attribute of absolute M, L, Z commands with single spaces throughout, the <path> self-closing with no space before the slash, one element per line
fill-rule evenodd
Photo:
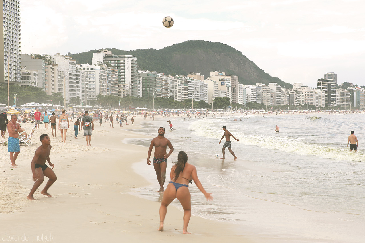
<path fill-rule="evenodd" d="M 52 148 L 51 139 L 47 134 L 41 135 L 39 139 L 41 140 L 42 145 L 39 146 L 37 150 L 35 150 L 34 157 L 32 159 L 32 162 L 30 163 L 30 167 L 33 173 L 33 181 L 35 181 L 35 183 L 33 184 L 33 187 L 30 190 L 29 195 L 27 196 L 29 200 L 36 200 L 33 197 L 33 194 L 43 183 L 43 181 L 45 180 L 45 176 L 48 177 L 49 180 L 47 181 L 45 188 L 41 191 L 41 194 L 51 197 L 52 195 L 49 194 L 47 190 L 57 180 L 57 176 L 52 170 L 54 168 L 54 164 L 51 163 L 51 159 L 49 158 Z M 49 166 L 52 167 L 52 169 L 46 165 L 46 161 L 48 162 Z"/>

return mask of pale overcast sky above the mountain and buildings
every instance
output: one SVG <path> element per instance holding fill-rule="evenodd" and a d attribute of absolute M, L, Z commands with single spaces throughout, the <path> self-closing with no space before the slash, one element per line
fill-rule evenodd
<path fill-rule="evenodd" d="M 234 47 L 291 84 L 316 87 L 335 72 L 339 84 L 365 85 L 364 12 L 364 0 L 21 0 L 22 53 L 207 40 Z M 165 16 L 173 27 L 162 26 Z"/>

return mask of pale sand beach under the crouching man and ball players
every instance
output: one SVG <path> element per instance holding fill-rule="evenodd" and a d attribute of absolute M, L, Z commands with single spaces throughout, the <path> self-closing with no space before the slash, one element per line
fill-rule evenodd
<path fill-rule="evenodd" d="M 161 120 L 166 126 L 166 119 Z M 171 119 L 173 121 L 173 118 Z M 242 234 L 237 225 L 207 220 L 192 216 L 189 223 L 191 235 L 183 235 L 183 213 L 170 206 L 166 216 L 165 231 L 157 231 L 158 210 L 161 196 L 156 192 L 156 201 L 149 201 L 129 192 L 149 184 L 132 169 L 132 163 L 146 160 L 145 147 L 123 144 L 126 138 L 146 138 L 138 132 L 142 117 L 135 118 L 134 126 L 115 126 L 109 123 L 95 123 L 91 144 L 86 144 L 82 132 L 74 139 L 72 124 L 66 143 L 61 143 L 59 130 L 57 138 L 43 125 L 35 131 L 34 146 L 20 146 L 16 160 L 17 168 L 11 168 L 6 146 L 0 147 L 0 240 L 8 242 L 267 242 L 258 235 Z M 144 121 L 144 120 L 143 120 Z M 147 120 L 148 121 L 148 120 Z M 158 121 L 156 122 L 156 124 Z M 22 123 L 30 131 L 31 123 Z M 160 124 L 156 125 L 157 127 Z M 167 127 L 167 126 L 166 126 Z M 29 201 L 32 185 L 30 162 L 35 149 L 40 146 L 39 136 L 51 137 L 51 162 L 58 179 L 49 189 L 52 197 L 44 196 L 39 187 Z M 152 137 L 151 137 L 152 138 Z M 175 147 L 172 158 L 179 151 Z M 147 164 L 146 164 L 147 166 Z M 153 170 L 153 167 L 150 167 Z M 168 174 L 169 171 L 166 173 Z M 166 181 L 169 178 L 166 179 Z M 47 180 L 47 178 L 46 178 Z M 157 184 L 157 181 L 156 183 Z M 165 187 L 167 182 L 165 183 Z M 151 185 L 156 187 L 156 185 Z M 214 196 L 214 194 L 213 194 Z M 201 194 L 201 200 L 205 200 Z M 194 210 L 192 205 L 192 213 Z M 43 238 L 41 237 L 43 235 Z M 23 238 L 16 238 L 23 237 Z M 26 238 L 28 237 L 28 238 Z M 38 237 L 38 238 L 37 238 Z M 18 240 L 15 240 L 18 239 Z M 28 239 L 28 240 L 27 240 Z M 273 239 L 272 239 L 273 240 Z M 270 242 L 272 242 L 270 240 Z M 274 240 L 276 242 L 276 240 Z M 278 241 L 280 242 L 280 241 Z"/>

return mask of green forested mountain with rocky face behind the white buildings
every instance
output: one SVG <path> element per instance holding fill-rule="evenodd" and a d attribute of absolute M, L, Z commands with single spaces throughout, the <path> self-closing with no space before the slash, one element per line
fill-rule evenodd
<path fill-rule="evenodd" d="M 188 73 L 200 73 L 205 78 L 209 72 L 221 71 L 226 74 L 237 75 L 239 81 L 246 84 L 258 82 L 268 85 L 269 82 L 277 82 L 285 88 L 293 85 L 282 81 L 280 78 L 271 77 L 254 62 L 250 61 L 240 51 L 219 42 L 204 40 L 188 40 L 163 49 L 137 49 L 123 51 L 119 49 L 107 49 L 115 55 L 134 55 L 138 59 L 139 69 L 160 72 L 171 75 L 187 75 Z M 97 50 L 71 55 L 77 63 L 91 63 L 93 53 Z"/>

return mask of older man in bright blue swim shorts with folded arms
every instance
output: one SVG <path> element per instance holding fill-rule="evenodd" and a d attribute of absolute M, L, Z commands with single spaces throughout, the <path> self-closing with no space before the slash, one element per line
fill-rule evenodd
<path fill-rule="evenodd" d="M 23 128 L 20 128 L 19 123 L 16 121 L 18 120 L 18 117 L 16 115 L 10 116 L 10 122 L 7 125 L 8 128 L 8 152 L 10 152 L 10 161 L 11 161 L 11 167 L 16 168 L 15 161 L 16 158 L 18 158 L 18 155 L 20 153 L 20 146 L 19 146 L 19 132 L 25 132 Z M 15 154 L 14 154 L 15 153 Z"/>

